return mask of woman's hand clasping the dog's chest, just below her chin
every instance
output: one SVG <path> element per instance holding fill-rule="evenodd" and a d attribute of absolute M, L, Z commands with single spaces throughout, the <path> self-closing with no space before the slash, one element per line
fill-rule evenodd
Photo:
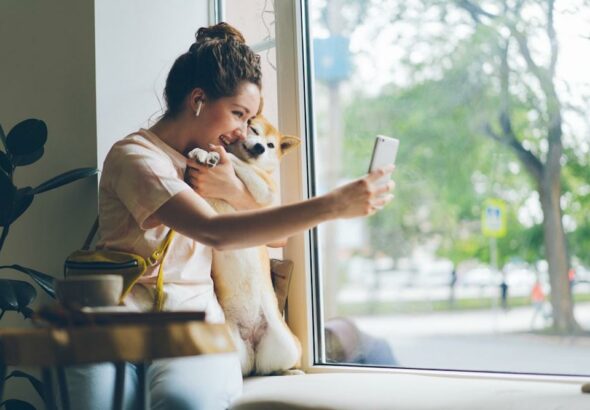
<path fill-rule="evenodd" d="M 242 181 L 236 176 L 231 159 L 225 148 L 210 145 L 219 153 L 219 162 L 213 168 L 187 159 L 186 182 L 204 198 L 217 198 L 230 203 L 237 209 L 253 209 L 256 203 Z"/>

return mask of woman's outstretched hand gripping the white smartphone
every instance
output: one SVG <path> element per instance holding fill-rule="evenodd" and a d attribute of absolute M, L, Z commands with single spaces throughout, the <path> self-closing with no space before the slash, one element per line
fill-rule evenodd
<path fill-rule="evenodd" d="M 395 183 L 382 178 L 390 176 L 394 165 L 379 168 L 365 177 L 350 182 L 326 194 L 332 204 L 336 218 L 355 218 L 373 215 L 392 199 Z"/>

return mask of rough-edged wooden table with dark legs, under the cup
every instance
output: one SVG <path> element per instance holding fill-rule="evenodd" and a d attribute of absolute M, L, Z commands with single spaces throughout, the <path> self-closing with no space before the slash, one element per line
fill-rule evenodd
<path fill-rule="evenodd" d="M 114 409 L 123 408 L 125 362 L 136 363 L 141 408 L 148 408 L 145 365 L 151 360 L 235 351 L 224 324 L 182 321 L 103 324 L 69 328 L 0 329 L 0 402 L 7 366 L 39 366 L 47 409 L 55 409 L 52 369 L 57 370 L 62 407 L 70 409 L 65 367 L 113 362 Z"/>

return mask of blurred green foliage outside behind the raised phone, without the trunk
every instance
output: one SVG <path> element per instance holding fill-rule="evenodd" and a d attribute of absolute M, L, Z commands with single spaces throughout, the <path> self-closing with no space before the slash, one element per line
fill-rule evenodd
<path fill-rule="evenodd" d="M 355 2 L 349 3 L 345 7 Z M 371 29 L 363 21 L 372 15 L 373 6 L 368 3 L 365 14 L 358 18 L 345 18 L 353 23 L 349 31 L 364 24 L 377 39 L 378 27 Z M 396 199 L 369 220 L 372 248 L 396 258 L 407 255 L 416 244 L 436 241 L 440 256 L 455 262 L 473 258 L 488 262 L 489 240 L 480 229 L 481 206 L 486 198 L 498 197 L 508 206 L 508 234 L 497 241 L 500 265 L 515 257 L 529 262 L 545 258 L 542 220 L 538 211 L 530 209 L 531 202 L 538 201 L 536 182 L 513 150 L 492 140 L 486 131 L 489 126 L 496 134 L 502 133 L 499 115 L 503 104 L 508 104 L 517 140 L 544 160 L 550 125 L 547 102 L 514 39 L 508 48 L 509 93 L 504 95 L 501 88 L 505 28 L 521 16 L 475 24 L 460 4 L 424 1 L 393 7 L 393 26 L 411 23 L 417 27 L 405 39 L 404 32 L 411 30 L 390 36 L 403 49 L 400 72 L 408 78 L 394 79 L 376 97 L 363 95 L 362 88 L 355 90 L 344 115 L 342 162 L 348 177 L 366 171 L 375 134 L 401 141 L 394 173 Z M 429 30 L 427 25 L 436 21 L 423 17 L 427 12 L 447 25 L 447 30 Z M 534 30 L 545 30 L 544 24 L 539 21 L 525 34 L 532 38 Z M 428 53 L 416 61 L 412 51 L 421 45 Z M 566 113 L 571 107 L 564 104 L 560 108 Z M 563 213 L 574 226 L 568 225 L 569 249 L 572 256 L 590 264 L 586 211 L 590 206 L 590 157 L 566 144 L 564 159 Z"/>

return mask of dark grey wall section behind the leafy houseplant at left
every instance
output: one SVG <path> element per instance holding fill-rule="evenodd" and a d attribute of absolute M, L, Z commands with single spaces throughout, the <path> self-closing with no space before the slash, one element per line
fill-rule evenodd
<path fill-rule="evenodd" d="M 65 171 L 96 166 L 94 4 L 90 0 L 0 2 L 0 124 L 26 118 L 47 123 L 45 155 L 17 168 L 17 186 L 36 186 Z M 1 264 L 22 264 L 60 276 L 96 215 L 96 178 L 40 194 L 11 227 Z M 23 278 L 1 270 L 0 277 Z M 40 293 L 38 301 L 49 299 Z M 7 313 L 0 326 L 29 322 Z M 40 402 L 30 386 L 9 382 L 5 397 Z"/>

